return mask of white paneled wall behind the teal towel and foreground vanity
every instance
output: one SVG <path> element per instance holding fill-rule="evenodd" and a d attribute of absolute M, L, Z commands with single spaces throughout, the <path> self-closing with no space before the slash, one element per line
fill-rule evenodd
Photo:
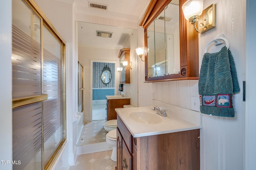
<path fill-rule="evenodd" d="M 199 35 L 199 65 L 201 66 L 204 48 L 216 35 L 224 33 L 230 43 L 242 89 L 245 80 L 245 16 L 246 0 L 204 0 L 204 8 L 216 4 L 216 28 Z M 138 40 L 143 39 L 140 34 Z M 220 49 L 220 48 L 219 48 Z M 211 49 L 218 51 L 218 48 Z M 142 68 L 144 63 L 140 63 Z M 199 66 L 199 68 L 200 68 Z M 140 69 L 139 106 L 150 105 L 150 93 L 155 100 L 191 109 L 191 96 L 198 96 L 197 80 L 155 82 L 143 84 L 143 69 Z M 149 88 L 152 84 L 152 89 Z M 146 90 L 145 90 L 146 89 Z M 224 118 L 203 115 L 200 131 L 200 167 L 202 170 L 242 170 L 244 169 L 245 149 L 245 102 L 242 92 L 233 96 L 235 117 Z"/>

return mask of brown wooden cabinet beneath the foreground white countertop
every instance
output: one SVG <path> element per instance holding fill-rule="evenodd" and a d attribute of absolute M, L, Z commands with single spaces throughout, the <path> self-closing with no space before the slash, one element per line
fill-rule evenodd
<path fill-rule="evenodd" d="M 200 170 L 200 129 L 134 138 L 119 116 L 117 129 L 118 170 Z"/>

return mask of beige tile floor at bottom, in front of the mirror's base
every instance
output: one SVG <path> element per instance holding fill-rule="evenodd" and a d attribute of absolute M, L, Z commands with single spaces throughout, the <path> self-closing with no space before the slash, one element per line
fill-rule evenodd
<path fill-rule="evenodd" d="M 69 170 L 115 170 L 116 162 L 110 156 L 112 150 L 78 155 L 75 166 Z"/>

